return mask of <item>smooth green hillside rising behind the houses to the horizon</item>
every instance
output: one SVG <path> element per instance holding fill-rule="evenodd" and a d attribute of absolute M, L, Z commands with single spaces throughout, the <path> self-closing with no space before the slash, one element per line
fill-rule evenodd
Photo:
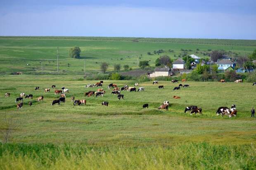
<path fill-rule="evenodd" d="M 85 71 L 100 72 L 102 62 L 109 63 L 108 72 L 114 64 L 128 64 L 137 69 L 137 61 L 148 60 L 154 67 L 160 49 L 171 58 L 178 58 L 188 50 L 188 55 L 197 54 L 207 57 L 208 50 L 225 50 L 234 56 L 247 56 L 256 47 L 255 40 L 207 40 L 207 39 L 160 39 L 160 38 L 125 38 L 125 37 L 0 37 L 0 73 L 57 71 L 57 47 L 59 47 L 59 72 L 83 74 Z M 81 58 L 68 56 L 69 49 L 78 46 Z M 198 50 L 197 50 L 198 49 Z M 169 51 L 171 50 L 171 51 Z M 173 50 L 173 51 L 172 51 Z M 152 55 L 148 55 L 150 52 Z M 209 57 L 209 56 L 208 56 Z M 27 65 L 28 64 L 28 65 Z"/>

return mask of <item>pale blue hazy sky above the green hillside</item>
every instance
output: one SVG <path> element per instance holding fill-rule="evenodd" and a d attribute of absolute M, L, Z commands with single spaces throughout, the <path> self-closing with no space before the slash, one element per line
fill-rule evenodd
<path fill-rule="evenodd" d="M 0 0 L 0 36 L 256 40 L 256 0 Z"/>

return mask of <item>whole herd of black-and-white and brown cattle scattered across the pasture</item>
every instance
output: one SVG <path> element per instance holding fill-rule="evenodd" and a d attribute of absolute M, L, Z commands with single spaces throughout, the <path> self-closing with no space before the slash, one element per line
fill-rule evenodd
<path fill-rule="evenodd" d="M 182 82 L 186 82 L 186 79 L 182 79 Z M 224 79 L 221 79 L 220 82 L 225 82 Z M 239 79 L 239 80 L 236 80 L 235 82 L 242 82 L 242 79 Z M 154 81 L 153 82 L 153 85 L 154 84 L 158 84 L 159 82 L 158 81 Z M 171 83 L 179 83 L 178 80 L 172 80 Z M 85 86 L 85 88 L 93 88 L 93 87 L 102 87 L 103 85 L 103 81 L 100 81 L 96 84 L 88 84 Z M 125 85 L 121 88 L 119 88 L 116 84 L 109 84 L 107 86 L 107 89 L 111 89 L 112 88 L 112 91 L 111 91 L 111 94 L 114 94 L 114 95 L 117 95 L 117 98 L 118 100 L 120 99 L 124 99 L 124 95 L 121 94 L 121 91 L 128 91 L 128 92 L 136 92 L 136 87 L 135 86 L 139 86 L 139 83 L 135 83 L 134 86 L 132 87 L 129 87 L 128 85 Z M 256 86 L 256 82 L 253 83 L 253 86 Z M 188 88 L 189 87 L 189 84 L 179 84 L 179 86 L 177 87 L 174 87 L 173 90 L 180 90 L 180 87 L 183 87 L 183 88 Z M 55 85 L 52 85 L 52 89 L 55 89 L 56 86 Z M 158 88 L 164 88 L 163 85 L 160 85 L 158 86 Z M 56 94 L 59 94 L 59 99 L 57 100 L 53 100 L 52 101 L 52 105 L 55 105 L 55 104 L 58 104 L 60 105 L 61 102 L 65 102 L 66 100 L 66 94 L 65 93 L 69 93 L 69 89 L 65 88 L 65 87 L 62 87 L 61 88 L 62 90 L 54 90 L 54 93 L 55 95 Z M 36 91 L 39 90 L 39 86 L 36 86 L 35 88 Z M 139 91 L 144 91 L 145 90 L 145 87 L 138 87 L 137 88 L 137 92 Z M 50 92 L 50 88 L 45 88 L 44 90 L 44 93 L 47 93 L 47 92 Z M 104 96 L 104 94 L 106 93 L 106 91 L 104 91 L 103 88 L 98 88 L 97 91 L 88 91 L 88 92 L 85 92 L 84 93 L 84 96 L 85 97 L 91 97 L 91 96 Z M 5 93 L 5 97 L 10 97 L 10 93 Z M 25 95 L 25 93 L 20 93 L 19 97 L 16 98 L 15 100 L 15 103 L 17 104 L 17 108 L 22 108 L 23 106 L 23 99 L 26 99 L 26 98 L 29 98 L 29 99 L 33 99 L 33 95 L 32 94 L 28 94 L 28 95 Z M 174 95 L 173 96 L 174 99 L 179 99 L 180 97 L 179 96 L 176 96 Z M 43 101 L 44 97 L 43 95 L 41 95 L 39 98 L 37 98 L 37 101 L 40 102 L 40 101 Z M 75 97 L 72 96 L 71 97 L 71 101 L 73 102 L 73 105 L 86 105 L 86 100 L 85 99 L 82 99 L 82 100 L 75 100 Z M 168 110 L 168 107 L 169 107 L 169 101 L 164 101 L 159 107 L 158 109 L 166 109 Z M 32 102 L 28 102 L 28 105 L 31 106 L 32 105 Z M 109 105 L 109 102 L 107 101 L 104 101 L 102 102 L 102 105 L 105 105 L 105 106 L 108 106 Z M 144 109 L 147 107 L 149 107 L 149 104 L 148 103 L 145 103 L 143 106 L 142 106 Z M 195 105 L 192 105 L 192 106 L 187 106 L 185 107 L 185 113 L 186 112 L 189 112 L 190 114 L 202 114 L 202 109 L 195 106 Z M 237 116 L 237 109 L 236 109 L 236 105 L 233 104 L 230 109 L 228 107 L 219 107 L 218 110 L 216 111 L 216 115 L 226 115 L 226 116 L 229 116 L 229 117 L 232 117 L 232 116 Z"/>

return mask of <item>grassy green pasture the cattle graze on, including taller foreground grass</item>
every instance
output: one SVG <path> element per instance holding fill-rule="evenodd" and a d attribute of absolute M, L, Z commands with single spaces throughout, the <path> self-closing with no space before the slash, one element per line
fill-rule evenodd
<path fill-rule="evenodd" d="M 79 75 L 7 75 L 0 82 L 1 130 L 5 116 L 14 128 L 9 144 L 0 145 L 0 169 L 255 169 L 256 89 L 251 83 L 186 82 L 189 88 L 167 81 L 141 83 L 145 91 L 122 91 L 124 100 L 107 90 L 109 83 L 133 86 L 135 81 L 104 80 L 104 97 L 84 97 L 86 84 Z M 66 102 L 45 88 L 65 86 Z M 164 89 L 158 89 L 164 85 Z M 35 91 L 39 86 L 40 90 Z M 6 92 L 11 93 L 5 98 Z M 20 93 L 33 94 L 17 109 Z M 36 99 L 44 96 L 43 102 Z M 178 95 L 180 99 L 173 99 Z M 73 106 L 71 96 L 86 99 Z M 159 110 L 168 100 L 169 111 Z M 28 102 L 32 101 L 30 107 Z M 101 105 L 109 102 L 109 107 Z M 148 103 L 149 108 L 142 105 Z M 237 105 L 237 117 L 216 116 L 220 106 Z M 185 114 L 197 105 L 202 115 Z M 1 134 L 2 135 L 2 134 Z M 2 136 L 0 136 L 2 138 Z"/>

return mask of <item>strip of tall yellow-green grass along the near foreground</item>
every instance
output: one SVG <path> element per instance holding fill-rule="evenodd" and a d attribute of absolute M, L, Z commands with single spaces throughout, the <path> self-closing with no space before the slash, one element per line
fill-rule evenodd
<path fill-rule="evenodd" d="M 0 169 L 256 169 L 254 145 L 191 143 L 173 147 L 0 145 Z"/>

